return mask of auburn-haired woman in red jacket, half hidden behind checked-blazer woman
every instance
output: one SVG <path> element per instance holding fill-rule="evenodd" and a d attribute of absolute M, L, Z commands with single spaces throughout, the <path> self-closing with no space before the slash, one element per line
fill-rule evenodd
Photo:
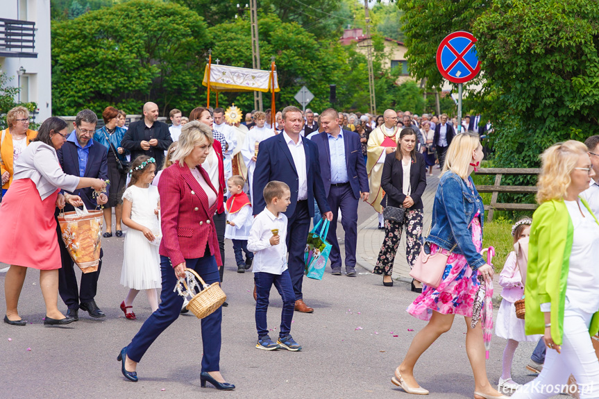
<path fill-rule="evenodd" d="M 225 213 L 225 207 L 223 203 L 224 192 L 226 191 L 226 183 L 225 183 L 225 167 L 223 165 L 223 146 L 226 146 L 225 136 L 222 133 L 217 132 L 212 129 L 212 123 L 214 122 L 214 118 L 212 118 L 212 112 L 208 110 L 208 108 L 198 107 L 194 108 L 192 112 L 189 113 L 190 121 L 201 121 L 203 124 L 206 124 L 212 130 L 212 136 L 214 137 L 213 151 L 206 157 L 206 160 L 203 162 L 202 167 L 208 172 L 210 175 L 210 180 L 212 181 L 212 185 L 217 189 L 219 195 L 219 209 L 217 213 L 214 215 L 214 226 L 217 228 L 217 237 L 219 239 L 219 248 L 221 250 L 221 259 L 223 260 L 223 264 L 225 263 L 225 228 L 227 223 L 227 215 Z M 213 167 L 210 167 L 210 160 L 216 158 L 218 156 L 218 174 L 216 169 L 216 164 Z M 218 187 L 217 187 L 218 186 Z M 221 275 L 221 282 L 223 282 L 223 272 L 224 267 L 219 269 L 219 273 Z M 228 303 L 223 303 L 223 306 L 228 306 Z"/>

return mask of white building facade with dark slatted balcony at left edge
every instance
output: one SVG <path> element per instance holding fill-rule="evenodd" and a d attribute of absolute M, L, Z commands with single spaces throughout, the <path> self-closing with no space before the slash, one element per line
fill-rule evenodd
<path fill-rule="evenodd" d="M 41 123 L 52 114 L 50 0 L 1 0 L 0 69 L 20 87 L 17 101 L 37 103 Z"/>

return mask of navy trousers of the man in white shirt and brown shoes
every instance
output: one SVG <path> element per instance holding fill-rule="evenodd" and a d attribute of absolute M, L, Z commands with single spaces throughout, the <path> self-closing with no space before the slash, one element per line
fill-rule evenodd
<path fill-rule="evenodd" d="M 307 201 L 298 201 L 294 214 L 287 220 L 287 251 L 289 252 L 287 266 L 296 300 L 303 299 L 301 287 L 305 271 L 304 253 L 309 232 L 310 211 Z"/>

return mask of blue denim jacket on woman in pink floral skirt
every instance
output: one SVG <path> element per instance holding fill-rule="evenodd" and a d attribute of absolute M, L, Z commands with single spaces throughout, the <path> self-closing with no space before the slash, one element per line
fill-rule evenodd
<path fill-rule="evenodd" d="M 472 189 L 453 172 L 448 171 L 441 177 L 432 206 L 432 228 L 425 241 L 447 250 L 457 242 L 453 252 L 464 255 L 469 266 L 476 270 L 486 262 L 472 242 L 471 221 L 476 212 L 480 212 L 482 229 L 484 207 L 470 176 L 468 180 Z"/>

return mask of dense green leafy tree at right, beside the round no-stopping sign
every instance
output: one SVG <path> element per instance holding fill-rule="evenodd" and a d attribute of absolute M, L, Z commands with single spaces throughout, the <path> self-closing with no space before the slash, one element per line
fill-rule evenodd
<path fill-rule="evenodd" d="M 475 22 L 496 164 L 537 167 L 566 139 L 599 133 L 599 3 L 496 0 Z"/>

